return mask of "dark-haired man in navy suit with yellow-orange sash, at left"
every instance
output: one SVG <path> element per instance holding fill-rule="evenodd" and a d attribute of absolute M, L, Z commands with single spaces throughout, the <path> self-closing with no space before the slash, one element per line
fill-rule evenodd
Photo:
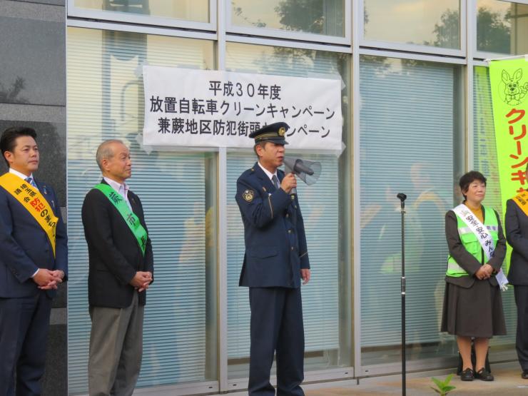
<path fill-rule="evenodd" d="M 0 395 L 40 395 L 51 299 L 68 272 L 66 227 L 53 188 L 33 176 L 34 129 L 6 129 L 0 147 L 9 166 L 0 178 Z"/>

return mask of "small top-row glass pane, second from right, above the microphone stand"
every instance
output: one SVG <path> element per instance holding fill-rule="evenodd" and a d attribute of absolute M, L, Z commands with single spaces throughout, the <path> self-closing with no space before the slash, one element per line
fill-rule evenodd
<path fill-rule="evenodd" d="M 460 0 L 365 0 L 367 40 L 460 49 Z"/>

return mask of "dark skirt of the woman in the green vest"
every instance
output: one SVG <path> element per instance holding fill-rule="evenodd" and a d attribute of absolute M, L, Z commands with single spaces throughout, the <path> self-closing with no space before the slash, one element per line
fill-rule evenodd
<path fill-rule="evenodd" d="M 499 286 L 487 279 L 475 280 L 471 288 L 446 283 L 441 331 L 477 338 L 506 335 Z"/>

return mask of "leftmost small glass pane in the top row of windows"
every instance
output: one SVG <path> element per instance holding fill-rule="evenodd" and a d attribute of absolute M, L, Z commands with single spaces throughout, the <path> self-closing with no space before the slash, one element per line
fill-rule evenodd
<path fill-rule="evenodd" d="M 209 22 L 209 0 L 75 0 L 79 9 Z"/>

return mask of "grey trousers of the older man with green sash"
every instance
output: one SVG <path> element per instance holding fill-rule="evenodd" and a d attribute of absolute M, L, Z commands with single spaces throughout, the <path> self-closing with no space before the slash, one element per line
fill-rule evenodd
<path fill-rule="evenodd" d="M 143 305 L 134 293 L 128 308 L 90 307 L 90 396 L 130 396 L 141 369 Z"/>

